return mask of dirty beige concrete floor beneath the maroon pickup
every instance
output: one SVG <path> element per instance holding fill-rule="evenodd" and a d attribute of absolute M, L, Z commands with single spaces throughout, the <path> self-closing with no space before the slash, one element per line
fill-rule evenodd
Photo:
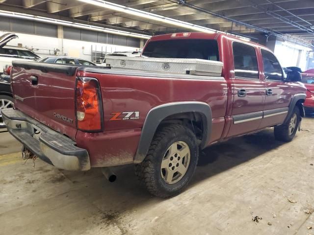
<path fill-rule="evenodd" d="M 166 200 L 131 165 L 109 183 L 99 169 L 24 164 L 21 145 L 0 133 L 0 235 L 314 235 L 313 123 L 304 118 L 290 143 L 267 129 L 209 147 L 189 187 Z"/>

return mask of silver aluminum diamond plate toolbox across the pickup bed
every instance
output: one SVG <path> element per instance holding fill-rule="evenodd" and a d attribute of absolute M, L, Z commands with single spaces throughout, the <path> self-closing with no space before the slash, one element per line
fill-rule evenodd
<path fill-rule="evenodd" d="M 125 56 L 107 56 L 106 64 L 112 69 L 120 70 L 152 71 L 205 76 L 221 76 L 223 65 L 220 61 L 202 59 Z"/>

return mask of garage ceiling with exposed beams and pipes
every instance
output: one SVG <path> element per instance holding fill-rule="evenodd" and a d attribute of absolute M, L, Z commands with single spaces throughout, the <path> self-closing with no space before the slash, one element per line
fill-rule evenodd
<path fill-rule="evenodd" d="M 0 0 L 0 9 L 156 35 L 193 31 L 144 14 L 109 9 L 102 0 Z M 206 28 L 254 37 L 259 32 L 314 45 L 313 0 L 111 0 L 110 2 Z M 313 46 L 312 46 L 313 47 Z"/>

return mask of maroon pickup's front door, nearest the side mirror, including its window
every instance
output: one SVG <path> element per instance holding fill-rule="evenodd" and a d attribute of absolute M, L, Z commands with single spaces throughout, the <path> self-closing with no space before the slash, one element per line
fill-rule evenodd
<path fill-rule="evenodd" d="M 261 54 L 266 86 L 264 118 L 261 124 L 263 128 L 283 123 L 294 92 L 284 82 L 283 70 L 274 54 L 265 49 L 261 49 Z"/>

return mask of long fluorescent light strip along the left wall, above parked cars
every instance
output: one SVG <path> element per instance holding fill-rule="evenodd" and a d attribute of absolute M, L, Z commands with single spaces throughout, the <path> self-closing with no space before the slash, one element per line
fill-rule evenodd
<path fill-rule="evenodd" d="M 14 18 L 19 18 L 19 19 L 27 19 L 27 20 L 31 20 L 31 21 L 39 21 L 39 22 L 45 22 L 45 23 L 49 23 L 49 24 L 59 24 L 59 25 L 64 25 L 64 26 L 89 29 L 89 30 L 94 30 L 94 31 L 99 31 L 99 32 L 112 33 L 112 34 L 135 37 L 135 38 L 143 38 L 143 39 L 151 38 L 151 36 L 149 36 L 149 35 L 140 34 L 140 33 L 131 33 L 131 32 L 117 30 L 117 29 L 104 28 L 104 27 L 88 25 L 88 24 L 80 24 L 80 23 L 75 23 L 75 22 L 71 22 L 71 21 L 62 21 L 62 20 L 51 19 L 51 18 L 42 17 L 42 16 L 34 16 L 34 15 L 28 15 L 28 14 L 11 12 L 11 11 L 0 10 L 0 16 L 8 16 L 8 17 L 14 17 Z"/>

